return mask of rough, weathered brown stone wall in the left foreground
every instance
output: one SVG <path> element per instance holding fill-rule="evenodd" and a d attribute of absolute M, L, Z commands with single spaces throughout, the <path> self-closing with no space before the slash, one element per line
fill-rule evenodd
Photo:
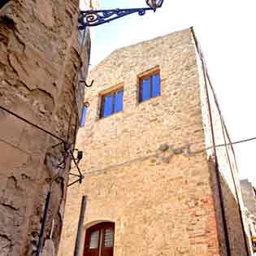
<path fill-rule="evenodd" d="M 88 68 L 89 52 L 88 36 L 80 55 L 78 11 L 78 0 L 7 1 L 0 9 L 0 106 L 67 141 L 71 150 L 84 101 L 76 73 Z M 60 176 L 44 237 L 51 238 L 44 254 L 56 253 L 71 158 L 59 168 L 60 141 L 6 111 L 0 110 L 0 124 L 0 254 L 35 253 L 46 194 Z"/>

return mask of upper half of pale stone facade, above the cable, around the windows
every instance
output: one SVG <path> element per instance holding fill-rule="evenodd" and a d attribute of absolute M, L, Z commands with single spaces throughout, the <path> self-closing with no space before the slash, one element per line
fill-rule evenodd
<path fill-rule="evenodd" d="M 202 149 L 194 55 L 188 30 L 116 50 L 93 68 L 89 80 L 95 82 L 85 94 L 85 101 L 90 102 L 86 125 L 80 129 L 76 145 L 85 151 L 80 162 L 85 171 L 156 154 L 165 142 L 174 148 L 189 143 L 191 150 Z M 160 69 L 161 97 L 138 104 L 137 76 L 154 67 Z M 124 111 L 99 119 L 100 93 L 122 86 Z M 191 129 L 195 130 L 193 136 Z"/>

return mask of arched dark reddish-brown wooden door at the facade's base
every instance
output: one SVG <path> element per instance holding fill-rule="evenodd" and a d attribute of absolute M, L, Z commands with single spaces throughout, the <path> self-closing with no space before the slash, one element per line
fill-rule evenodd
<path fill-rule="evenodd" d="M 86 230 L 84 256 L 113 256 L 115 223 L 103 222 Z"/>

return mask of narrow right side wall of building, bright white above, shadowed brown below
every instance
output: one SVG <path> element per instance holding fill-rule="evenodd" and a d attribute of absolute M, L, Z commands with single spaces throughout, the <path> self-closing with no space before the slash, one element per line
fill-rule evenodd
<path fill-rule="evenodd" d="M 220 106 L 217 101 L 215 92 L 210 88 L 209 81 L 205 80 L 203 74 L 202 60 L 197 54 L 197 64 L 199 68 L 199 81 L 202 98 L 202 119 L 206 141 L 206 154 L 209 158 L 209 167 L 211 173 L 211 185 L 215 197 L 215 212 L 217 215 L 218 239 L 221 246 L 222 255 L 227 255 L 228 244 L 232 256 L 248 255 L 246 244 L 249 245 L 249 227 L 245 218 L 245 207 L 242 200 L 241 186 L 239 182 L 238 171 L 236 167 L 236 155 L 232 151 L 229 143 L 228 134 L 225 131 L 224 124 L 220 119 Z M 209 104 L 206 96 L 206 85 L 209 93 Z M 218 109 L 219 106 L 219 109 Z M 216 154 L 218 160 L 219 180 L 215 170 L 215 152 L 213 150 L 212 128 L 210 126 L 210 114 L 212 117 L 212 128 L 215 137 Z M 219 114 L 220 113 L 220 114 Z M 223 194 L 223 212 L 221 210 L 221 197 L 219 187 Z M 224 223 L 227 224 L 228 235 L 225 236 Z M 244 232 L 245 233 L 244 233 Z M 229 242 L 228 242 L 229 241 Z M 249 254 L 251 253 L 249 249 Z"/>

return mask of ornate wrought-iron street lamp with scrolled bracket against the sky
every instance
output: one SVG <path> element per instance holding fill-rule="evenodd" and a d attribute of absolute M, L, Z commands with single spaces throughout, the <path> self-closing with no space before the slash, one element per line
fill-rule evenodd
<path fill-rule="evenodd" d="M 145 15 L 145 11 L 156 11 L 156 9 L 162 7 L 163 5 L 163 0 L 145 0 L 145 2 L 149 7 L 80 11 L 78 28 L 80 30 L 84 30 L 86 27 L 94 27 L 105 24 L 107 22 L 110 22 L 111 20 L 116 20 L 132 13 L 138 13 L 138 15 Z"/>

